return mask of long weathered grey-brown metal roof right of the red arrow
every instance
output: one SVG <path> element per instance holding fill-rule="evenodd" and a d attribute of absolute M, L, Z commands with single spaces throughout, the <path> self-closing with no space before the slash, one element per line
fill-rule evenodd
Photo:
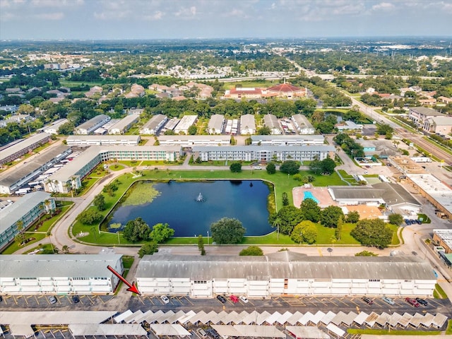
<path fill-rule="evenodd" d="M 136 278 L 420 279 L 436 280 L 429 263 L 416 256 L 303 256 L 290 251 L 268 256 L 144 256 Z"/>

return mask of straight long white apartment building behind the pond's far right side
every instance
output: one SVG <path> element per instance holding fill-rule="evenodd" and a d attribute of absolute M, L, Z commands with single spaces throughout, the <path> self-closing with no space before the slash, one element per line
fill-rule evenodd
<path fill-rule="evenodd" d="M 334 158 L 333 146 L 194 146 L 194 158 L 200 157 L 202 161 L 209 160 L 236 160 L 270 162 L 272 160 L 323 160 L 326 157 Z"/>

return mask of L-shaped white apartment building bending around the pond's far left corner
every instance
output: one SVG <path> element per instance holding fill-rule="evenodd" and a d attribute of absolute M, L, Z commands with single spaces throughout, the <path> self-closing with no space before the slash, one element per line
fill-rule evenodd
<path fill-rule="evenodd" d="M 69 193 L 81 188 L 81 180 L 101 162 L 110 160 L 151 160 L 174 162 L 182 155 L 180 146 L 91 146 L 74 157 L 44 182 L 47 192 Z"/>

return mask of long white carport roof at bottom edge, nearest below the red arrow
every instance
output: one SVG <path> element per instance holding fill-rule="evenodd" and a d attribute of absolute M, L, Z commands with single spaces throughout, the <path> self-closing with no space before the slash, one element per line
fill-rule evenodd
<path fill-rule="evenodd" d="M 113 335 L 114 338 L 147 336 L 146 330 L 137 323 L 71 323 L 69 332 L 75 336 Z"/>

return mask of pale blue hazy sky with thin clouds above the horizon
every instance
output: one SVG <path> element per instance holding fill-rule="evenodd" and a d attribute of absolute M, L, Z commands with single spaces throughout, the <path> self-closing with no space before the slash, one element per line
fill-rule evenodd
<path fill-rule="evenodd" d="M 452 0 L 0 0 L 0 40 L 451 35 Z"/>

